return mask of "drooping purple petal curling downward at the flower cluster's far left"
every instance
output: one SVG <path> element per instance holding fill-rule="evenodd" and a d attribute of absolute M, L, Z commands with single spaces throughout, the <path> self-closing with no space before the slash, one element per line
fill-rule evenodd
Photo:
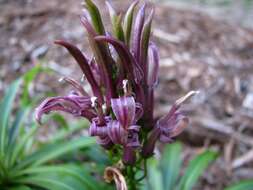
<path fill-rule="evenodd" d="M 36 108 L 35 117 L 38 123 L 41 123 L 43 114 L 48 114 L 51 111 L 63 111 L 74 116 L 93 116 L 90 97 L 78 96 L 71 94 L 65 97 L 53 97 L 44 100 L 39 107 Z M 88 118 L 89 120 L 91 118 Z"/>

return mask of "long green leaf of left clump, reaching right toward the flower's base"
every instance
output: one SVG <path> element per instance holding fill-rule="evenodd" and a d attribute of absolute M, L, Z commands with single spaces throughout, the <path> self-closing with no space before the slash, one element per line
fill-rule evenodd
<path fill-rule="evenodd" d="M 47 145 L 45 147 L 42 147 L 32 155 L 27 156 L 27 158 L 21 161 L 17 169 L 24 168 L 28 165 L 31 165 L 33 167 L 39 166 L 49 160 L 58 158 L 73 150 L 94 145 L 95 142 L 96 141 L 93 137 L 81 137 L 66 142 L 59 142 Z"/>

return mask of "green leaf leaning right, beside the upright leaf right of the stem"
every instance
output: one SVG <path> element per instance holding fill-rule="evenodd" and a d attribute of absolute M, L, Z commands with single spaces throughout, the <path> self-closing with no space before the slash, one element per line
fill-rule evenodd
<path fill-rule="evenodd" d="M 179 190 L 190 190 L 197 182 L 200 175 L 208 167 L 210 162 L 214 161 L 217 157 L 217 153 L 211 151 L 205 151 L 204 153 L 196 156 L 190 161 L 186 168 L 184 176 L 179 183 Z"/>

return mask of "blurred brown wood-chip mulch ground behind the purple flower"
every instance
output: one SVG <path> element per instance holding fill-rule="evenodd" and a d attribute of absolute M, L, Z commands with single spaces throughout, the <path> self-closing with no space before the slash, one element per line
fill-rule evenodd
<path fill-rule="evenodd" d="M 105 3 L 96 1 L 108 21 Z M 111 0 L 125 11 L 129 0 Z M 198 189 L 223 189 L 253 178 L 253 0 L 153 0 L 153 37 L 160 52 L 156 116 L 190 90 L 200 94 L 183 107 L 191 125 L 180 135 L 184 160 L 203 148 L 219 158 Z M 55 74 L 40 74 L 30 93 L 66 94 L 62 76 L 82 74 L 56 39 L 89 53 L 79 22 L 81 0 L 0 0 L 0 97 L 10 82 L 40 63 Z M 88 88 L 88 87 L 87 87 Z M 45 97 L 45 96 L 44 96 Z M 70 117 L 70 121 L 75 120 Z M 52 135 L 41 129 L 41 139 Z"/>

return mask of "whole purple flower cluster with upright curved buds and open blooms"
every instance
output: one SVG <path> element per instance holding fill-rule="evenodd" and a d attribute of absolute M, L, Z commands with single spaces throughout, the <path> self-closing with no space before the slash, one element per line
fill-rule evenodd
<path fill-rule="evenodd" d="M 190 92 L 172 106 L 169 113 L 156 120 L 153 116 L 154 89 L 158 83 L 159 56 L 150 41 L 153 9 L 147 14 L 144 4 L 136 13 L 134 1 L 124 17 L 107 2 L 112 31 L 106 32 L 100 12 L 91 0 L 85 0 L 81 23 L 87 31 L 93 57 L 71 43 L 56 41 L 65 47 L 80 66 L 92 95 L 83 86 L 64 77 L 74 91 L 63 97 L 44 100 L 36 109 L 36 119 L 44 113 L 64 111 L 91 122 L 89 133 L 98 137 L 105 149 L 117 146 L 125 164 L 133 165 L 137 155 L 153 154 L 155 143 L 171 142 L 182 132 L 188 119 L 180 105 L 195 92 Z M 120 151 L 119 151 L 120 152 Z"/>

